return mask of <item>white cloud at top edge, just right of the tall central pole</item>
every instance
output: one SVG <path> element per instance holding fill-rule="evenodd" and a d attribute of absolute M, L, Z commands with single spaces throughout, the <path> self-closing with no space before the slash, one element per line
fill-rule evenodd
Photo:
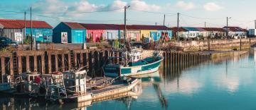
<path fill-rule="evenodd" d="M 146 4 L 145 1 L 141 0 L 132 0 L 129 5 L 137 10 L 141 11 L 159 11 L 161 8 L 155 4 Z"/>

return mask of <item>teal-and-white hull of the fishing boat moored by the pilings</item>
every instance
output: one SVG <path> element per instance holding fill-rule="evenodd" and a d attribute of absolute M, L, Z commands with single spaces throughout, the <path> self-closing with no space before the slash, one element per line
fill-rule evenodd
<path fill-rule="evenodd" d="M 144 64 L 141 66 L 129 66 L 122 67 L 118 65 L 106 66 L 105 67 L 105 75 L 110 77 L 117 76 L 132 76 L 132 75 L 142 75 L 146 73 L 154 73 L 159 70 L 159 66 L 161 61 L 163 61 L 163 57 L 159 56 L 157 61 L 152 63 Z M 112 71 L 109 71 L 112 70 Z"/>

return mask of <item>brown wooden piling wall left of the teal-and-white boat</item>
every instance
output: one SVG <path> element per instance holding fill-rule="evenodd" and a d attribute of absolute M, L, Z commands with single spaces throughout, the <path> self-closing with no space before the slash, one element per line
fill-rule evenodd
<path fill-rule="evenodd" d="M 89 72 L 97 74 L 108 56 L 119 56 L 119 51 L 110 49 L 77 49 L 50 51 L 12 51 L 0 54 L 0 83 L 4 75 L 15 78 L 20 73 L 37 71 L 42 74 L 68 71 L 87 66 Z"/>

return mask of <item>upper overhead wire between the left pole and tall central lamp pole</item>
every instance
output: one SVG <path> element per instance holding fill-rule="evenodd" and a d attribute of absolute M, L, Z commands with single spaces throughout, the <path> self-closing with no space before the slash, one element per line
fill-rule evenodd
<path fill-rule="evenodd" d="M 115 8 L 110 10 L 102 10 L 102 11 L 84 11 L 84 12 L 33 12 L 33 13 L 100 13 L 100 12 L 107 12 L 107 11 L 118 11 L 123 8 Z"/>

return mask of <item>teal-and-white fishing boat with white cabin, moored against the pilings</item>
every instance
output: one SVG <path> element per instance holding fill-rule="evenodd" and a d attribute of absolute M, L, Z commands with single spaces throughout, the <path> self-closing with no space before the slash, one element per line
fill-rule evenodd
<path fill-rule="evenodd" d="M 112 59 L 122 59 L 115 63 Z M 122 51 L 121 57 L 109 57 L 110 63 L 105 65 L 104 73 L 107 76 L 132 76 L 153 73 L 159 70 L 164 57 L 159 56 L 159 51 L 154 51 L 152 56 L 142 59 L 142 49 L 132 47 L 129 51 Z"/>

